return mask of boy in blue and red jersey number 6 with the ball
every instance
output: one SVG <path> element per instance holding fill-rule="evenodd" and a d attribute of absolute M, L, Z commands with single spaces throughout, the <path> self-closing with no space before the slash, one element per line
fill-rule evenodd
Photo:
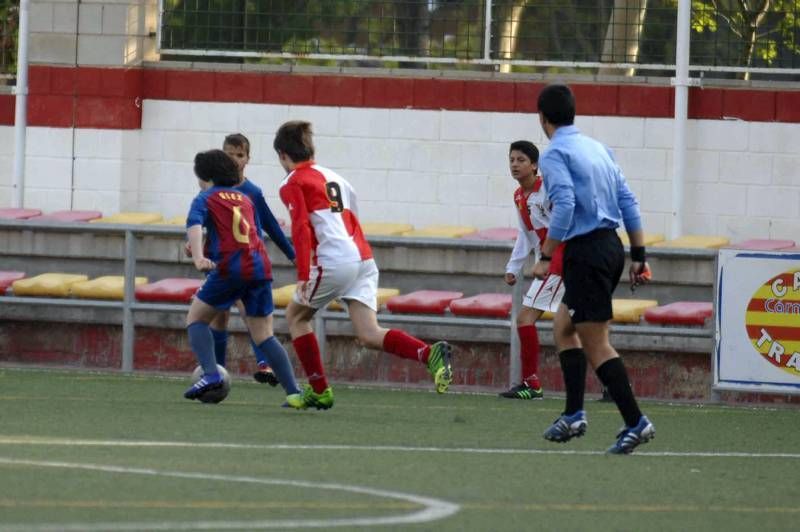
<path fill-rule="evenodd" d="M 194 265 L 208 276 L 186 316 L 189 343 L 203 376 L 184 397 L 199 399 L 222 386 L 209 324 L 238 300 L 244 305 L 244 321 L 254 344 L 269 354 L 287 395 L 298 393 L 286 350 L 273 336 L 272 266 L 255 208 L 233 188 L 239 182 L 238 167 L 222 150 L 209 150 L 195 156 L 194 171 L 201 192 L 192 201 L 186 227 Z"/>

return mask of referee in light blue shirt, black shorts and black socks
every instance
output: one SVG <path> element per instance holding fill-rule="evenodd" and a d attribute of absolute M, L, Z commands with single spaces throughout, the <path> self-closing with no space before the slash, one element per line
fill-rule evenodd
<path fill-rule="evenodd" d="M 536 277 L 547 274 L 549 257 L 566 242 L 565 293 L 553 334 L 567 401 L 544 437 L 563 443 L 586 432 L 583 394 L 588 360 L 625 420 L 625 428 L 608 452 L 629 454 L 653 438 L 655 427 L 639 410 L 625 365 L 609 343 L 608 324 L 612 294 L 625 267 L 625 251 L 616 231 L 620 222 L 631 242 L 631 286 L 650 279 L 639 202 L 611 151 L 573 125 L 575 97 L 569 87 L 548 85 L 539 94 L 538 107 L 539 122 L 550 139 L 539 168 L 553 205 L 547 240 L 533 269 Z"/>

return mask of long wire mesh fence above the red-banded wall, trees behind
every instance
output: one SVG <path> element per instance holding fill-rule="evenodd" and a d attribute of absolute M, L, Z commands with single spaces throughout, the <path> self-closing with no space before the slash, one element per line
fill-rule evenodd
<path fill-rule="evenodd" d="M 159 46 L 248 60 L 667 71 L 676 14 L 677 0 L 161 0 Z M 692 30 L 694 70 L 800 74 L 800 0 L 694 0 Z"/>

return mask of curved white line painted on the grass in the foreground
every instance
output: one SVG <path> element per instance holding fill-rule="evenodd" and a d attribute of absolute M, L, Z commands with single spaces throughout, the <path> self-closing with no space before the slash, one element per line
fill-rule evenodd
<path fill-rule="evenodd" d="M 0 464 L 28 467 L 50 467 L 62 469 L 81 469 L 86 471 L 100 471 L 103 473 L 123 473 L 131 475 L 148 475 L 156 477 L 171 477 L 188 480 L 213 480 L 219 482 L 240 482 L 249 484 L 266 484 L 270 486 L 292 486 L 296 488 L 315 490 L 348 491 L 371 497 L 384 497 L 399 499 L 423 506 L 422 510 L 403 515 L 387 515 L 381 517 L 348 517 L 337 519 L 284 519 L 273 521 L 195 521 L 195 522 L 140 522 L 140 523 L 59 523 L 59 524 L 16 524 L 0 525 L 0 530 L 6 532 L 50 532 L 50 531 L 96 531 L 96 530 L 231 530 L 231 529 L 270 529 L 270 528 L 330 528 L 340 526 L 379 526 L 411 523 L 429 523 L 437 519 L 449 517 L 460 510 L 460 506 L 440 499 L 422 497 L 387 491 L 381 489 L 350 486 L 346 484 L 330 484 L 318 482 L 304 482 L 300 480 L 281 480 L 259 477 L 245 477 L 235 475 L 214 475 L 208 473 L 188 473 L 181 471 L 160 471 L 157 469 L 142 469 L 135 467 L 121 467 L 101 464 L 81 464 L 71 462 L 49 462 L 38 460 L 18 460 L 0 457 Z"/>

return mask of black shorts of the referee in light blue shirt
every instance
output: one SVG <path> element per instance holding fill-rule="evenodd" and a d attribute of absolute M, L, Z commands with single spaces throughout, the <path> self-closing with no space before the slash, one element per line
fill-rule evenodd
<path fill-rule="evenodd" d="M 625 250 L 614 229 L 596 229 L 567 241 L 562 302 L 572 323 L 611 319 L 611 296 L 624 268 Z"/>

